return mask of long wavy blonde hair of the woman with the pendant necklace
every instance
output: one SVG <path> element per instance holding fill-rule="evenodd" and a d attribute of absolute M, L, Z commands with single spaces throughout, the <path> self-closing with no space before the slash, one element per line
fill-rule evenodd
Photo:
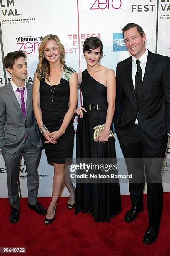
<path fill-rule="evenodd" d="M 38 55 L 39 64 L 38 64 L 38 67 L 36 69 L 36 72 L 37 72 L 37 77 L 38 77 L 39 80 L 41 80 L 43 77 L 45 77 L 47 80 L 49 80 L 50 64 L 49 64 L 49 61 L 47 61 L 47 59 L 45 58 L 44 49 L 45 49 L 45 46 L 46 46 L 47 42 L 50 39 L 53 39 L 57 42 L 57 45 L 60 49 L 60 63 L 62 65 L 64 65 L 64 67 L 66 66 L 65 61 L 64 61 L 64 58 L 65 58 L 64 46 L 61 44 L 60 39 L 58 38 L 58 36 L 57 35 L 52 35 L 52 34 L 45 36 L 42 39 L 42 42 L 41 42 L 39 50 L 38 50 L 39 51 L 39 55 Z"/>

